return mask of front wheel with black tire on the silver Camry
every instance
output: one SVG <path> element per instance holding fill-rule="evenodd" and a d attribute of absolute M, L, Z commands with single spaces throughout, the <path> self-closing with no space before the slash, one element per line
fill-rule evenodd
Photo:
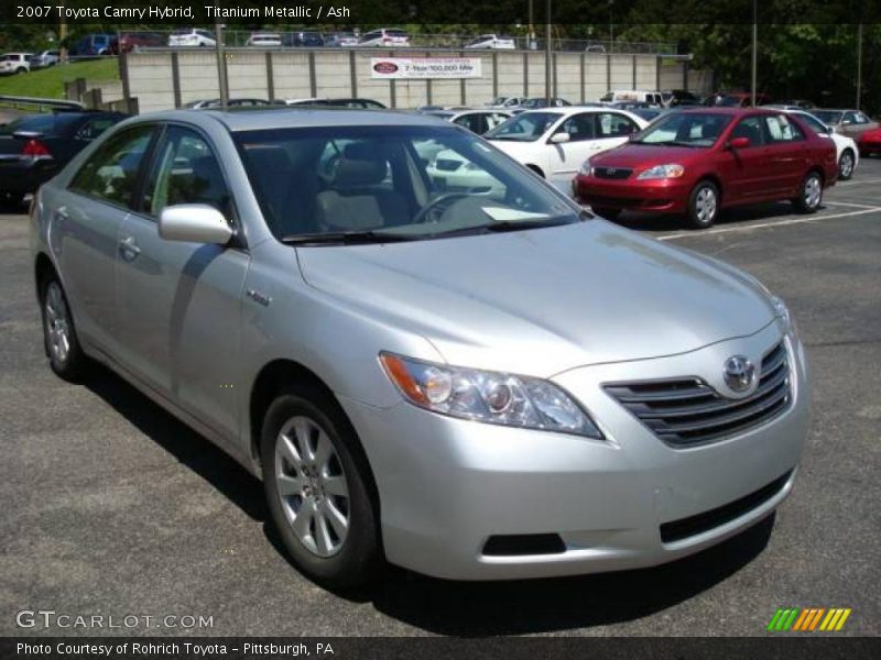
<path fill-rule="evenodd" d="M 267 503 L 297 569 L 337 590 L 374 579 L 382 551 L 373 481 L 336 402 L 285 389 L 267 411 L 260 450 Z"/>

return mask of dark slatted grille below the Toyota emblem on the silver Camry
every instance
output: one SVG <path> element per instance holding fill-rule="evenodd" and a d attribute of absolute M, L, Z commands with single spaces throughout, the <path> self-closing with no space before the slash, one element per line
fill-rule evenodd
<path fill-rule="evenodd" d="M 606 392 L 665 442 L 690 447 L 747 431 L 785 410 L 791 400 L 790 364 L 783 342 L 762 359 L 759 384 L 749 396 L 721 396 L 700 378 L 606 385 Z"/>

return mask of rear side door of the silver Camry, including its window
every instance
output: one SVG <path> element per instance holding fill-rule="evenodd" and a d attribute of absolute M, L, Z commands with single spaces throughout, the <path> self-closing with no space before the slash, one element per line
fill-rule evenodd
<path fill-rule="evenodd" d="M 113 356 L 121 350 L 113 286 L 119 231 L 154 132 L 141 124 L 105 142 L 62 194 L 52 219 L 53 252 L 77 327 Z"/>

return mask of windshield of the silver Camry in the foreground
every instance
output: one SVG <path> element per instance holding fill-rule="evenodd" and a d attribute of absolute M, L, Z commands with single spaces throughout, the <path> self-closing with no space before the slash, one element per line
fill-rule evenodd
<path fill-rule="evenodd" d="M 286 242 L 422 240 L 577 222 L 577 206 L 486 142 L 438 127 L 233 133 Z"/>

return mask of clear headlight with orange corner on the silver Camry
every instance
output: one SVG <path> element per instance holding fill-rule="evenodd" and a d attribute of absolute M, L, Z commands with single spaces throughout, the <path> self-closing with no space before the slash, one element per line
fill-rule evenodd
<path fill-rule="evenodd" d="M 569 395 L 541 378 L 380 353 L 389 380 L 411 404 L 442 415 L 602 439 Z"/>

